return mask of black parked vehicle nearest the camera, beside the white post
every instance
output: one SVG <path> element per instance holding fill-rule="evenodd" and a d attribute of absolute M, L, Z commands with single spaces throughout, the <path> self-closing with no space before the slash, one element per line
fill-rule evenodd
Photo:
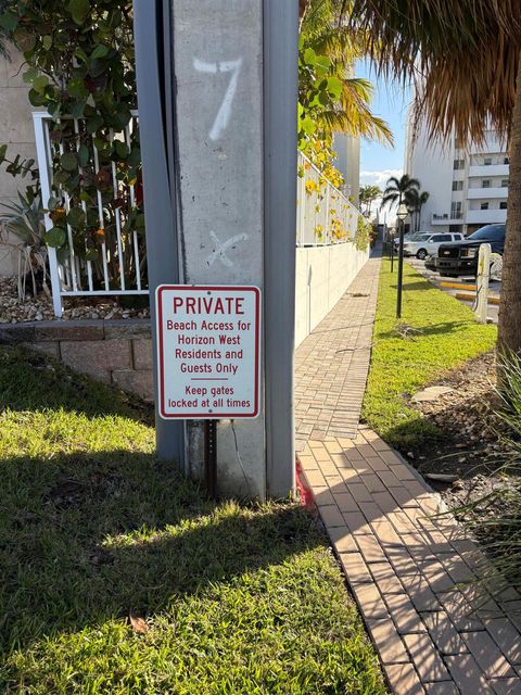
<path fill-rule="evenodd" d="M 505 225 L 485 225 L 459 243 L 443 244 L 437 250 L 437 270 L 444 277 L 478 275 L 480 245 L 490 243 L 493 253 L 503 256 Z"/>

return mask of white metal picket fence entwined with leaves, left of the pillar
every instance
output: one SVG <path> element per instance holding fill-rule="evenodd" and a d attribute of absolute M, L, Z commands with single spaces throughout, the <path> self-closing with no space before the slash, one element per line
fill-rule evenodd
<path fill-rule="evenodd" d="M 63 139 L 54 140 L 51 135 L 51 116 L 47 113 L 34 113 L 36 148 L 38 155 L 38 168 L 40 172 L 41 197 L 43 206 L 55 198 L 63 201 L 64 213 L 69 214 L 74 205 L 80 205 L 87 213 L 85 201 L 73 201 L 66 190 L 53 182 L 52 163 L 55 157 L 63 155 Z M 107 140 L 120 140 L 127 146 L 137 128 L 137 114 L 123 131 L 110 130 Z M 65 123 L 66 122 L 66 123 Z M 69 148 L 85 146 L 88 149 L 89 175 L 100 174 L 100 161 L 94 136 L 88 135 L 85 121 L 81 118 L 62 119 L 62 125 L 72 126 Z M 136 205 L 136 186 L 122 182 L 116 170 L 116 163 L 110 167 L 103 167 L 104 175 L 109 177 L 107 187 L 113 200 L 120 200 L 122 204 L 109 205 L 100 190 L 97 193 L 97 225 L 98 240 L 92 243 L 92 235 L 89 238 L 78 240 L 77 233 L 69 224 L 66 224 L 66 244 L 56 252 L 49 248 L 49 264 L 52 285 L 52 298 L 54 314 L 62 315 L 64 296 L 94 296 L 94 295 L 120 295 L 120 294 L 148 294 L 145 273 L 144 239 L 141 239 L 137 229 L 129 229 L 125 222 L 130 210 Z M 84 175 L 78 164 L 77 173 Z M 85 172 L 85 174 L 87 170 Z M 113 223 L 107 226 L 109 207 Z M 46 229 L 54 227 L 52 213 L 45 216 Z M 96 227 L 96 225 L 94 225 Z M 90 244 L 90 245 L 89 245 Z"/>

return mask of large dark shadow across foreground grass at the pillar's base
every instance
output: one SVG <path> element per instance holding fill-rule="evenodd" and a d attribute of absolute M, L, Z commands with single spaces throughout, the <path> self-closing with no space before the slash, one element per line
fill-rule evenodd
<path fill-rule="evenodd" d="M 0 648 L 81 630 L 323 542 L 294 505 L 215 505 L 152 455 L 0 462 Z"/>

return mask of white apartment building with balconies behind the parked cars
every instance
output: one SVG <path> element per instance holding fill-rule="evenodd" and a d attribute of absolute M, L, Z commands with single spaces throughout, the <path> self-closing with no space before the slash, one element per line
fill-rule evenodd
<path fill-rule="evenodd" d="M 472 233 L 483 225 L 507 220 L 509 161 L 494 130 L 482 146 L 429 142 L 427 130 L 416 137 L 409 123 L 405 170 L 421 182 L 430 198 L 421 211 L 420 229 Z"/>

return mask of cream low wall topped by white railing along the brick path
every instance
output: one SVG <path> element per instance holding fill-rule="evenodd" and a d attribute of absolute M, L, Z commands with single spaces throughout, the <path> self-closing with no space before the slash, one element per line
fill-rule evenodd
<path fill-rule="evenodd" d="M 329 314 L 369 258 L 354 243 L 296 249 L 295 346 Z"/>

